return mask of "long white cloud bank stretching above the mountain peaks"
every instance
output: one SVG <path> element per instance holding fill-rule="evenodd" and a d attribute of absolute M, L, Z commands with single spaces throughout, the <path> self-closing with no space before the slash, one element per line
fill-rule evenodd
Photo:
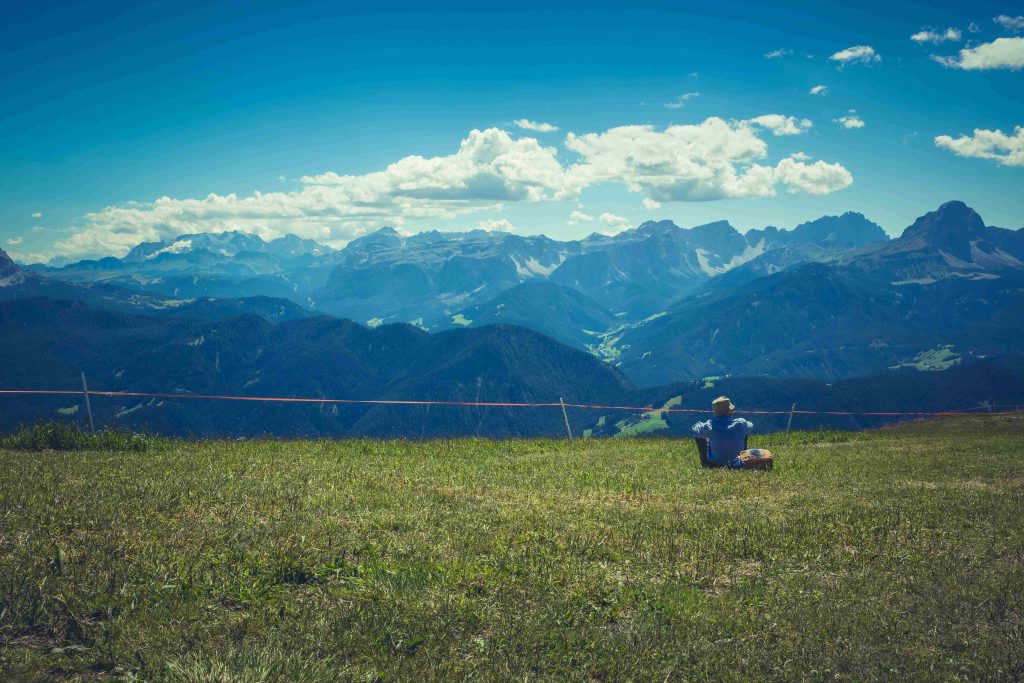
<path fill-rule="evenodd" d="M 499 128 L 473 130 L 451 155 L 404 157 L 364 175 L 326 172 L 301 178 L 293 191 L 200 199 L 162 197 L 86 214 L 54 245 L 59 256 L 124 254 L 140 242 L 186 232 L 243 230 L 273 239 L 292 232 L 340 247 L 382 225 L 433 222 L 501 210 L 509 203 L 572 200 L 587 187 L 621 183 L 660 202 L 827 194 L 849 186 L 842 165 L 792 155 L 766 164 L 766 133 L 799 135 L 807 119 L 767 114 L 744 121 L 712 117 L 696 124 L 620 126 L 568 133 L 564 150 Z M 564 156 L 566 151 L 569 158 Z M 582 211 L 570 222 L 591 221 Z M 604 220 L 598 218 L 598 220 Z M 483 220 L 483 229 L 512 229 Z"/>

